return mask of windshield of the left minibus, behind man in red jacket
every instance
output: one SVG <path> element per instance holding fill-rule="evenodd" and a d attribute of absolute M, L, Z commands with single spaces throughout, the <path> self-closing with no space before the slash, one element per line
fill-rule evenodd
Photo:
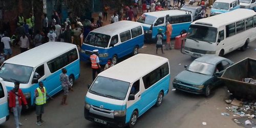
<path fill-rule="evenodd" d="M 23 84 L 29 82 L 33 67 L 4 63 L 0 68 L 0 77 L 4 81 L 15 82 L 18 81 Z"/>

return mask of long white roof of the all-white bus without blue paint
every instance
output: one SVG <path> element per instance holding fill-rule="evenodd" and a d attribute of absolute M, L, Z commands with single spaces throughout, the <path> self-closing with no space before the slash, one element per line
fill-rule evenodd
<path fill-rule="evenodd" d="M 248 17 L 252 17 L 253 15 L 256 15 L 256 13 L 253 10 L 236 9 L 223 14 L 202 18 L 194 21 L 191 24 L 200 24 L 200 25 L 208 24 L 208 25 L 212 25 L 212 27 L 219 28 L 223 25 L 227 25 Z"/>

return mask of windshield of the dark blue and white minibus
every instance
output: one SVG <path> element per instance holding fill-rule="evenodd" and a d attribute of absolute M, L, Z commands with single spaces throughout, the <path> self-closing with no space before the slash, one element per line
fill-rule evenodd
<path fill-rule="evenodd" d="M 110 36 L 100 33 L 90 33 L 84 43 L 99 47 L 108 47 Z"/>

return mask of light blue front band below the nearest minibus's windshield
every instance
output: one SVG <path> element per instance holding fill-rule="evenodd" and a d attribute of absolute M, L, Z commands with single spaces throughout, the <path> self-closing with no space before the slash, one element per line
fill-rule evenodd
<path fill-rule="evenodd" d="M 93 105 L 95 107 L 100 107 L 101 105 L 103 105 L 103 109 L 108 109 L 108 110 L 125 110 L 126 109 L 125 105 L 122 105 L 122 106 L 113 105 L 113 104 L 105 103 L 105 102 L 95 100 L 92 98 L 88 98 L 87 96 L 86 96 L 85 100 L 86 100 L 86 103 Z"/>

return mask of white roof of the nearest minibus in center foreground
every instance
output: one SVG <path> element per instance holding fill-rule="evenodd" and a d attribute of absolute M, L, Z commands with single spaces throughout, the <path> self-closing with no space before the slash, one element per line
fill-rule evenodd
<path fill-rule="evenodd" d="M 99 73 L 99 76 L 133 83 L 141 76 L 168 62 L 167 58 L 149 54 L 137 54 Z"/>

